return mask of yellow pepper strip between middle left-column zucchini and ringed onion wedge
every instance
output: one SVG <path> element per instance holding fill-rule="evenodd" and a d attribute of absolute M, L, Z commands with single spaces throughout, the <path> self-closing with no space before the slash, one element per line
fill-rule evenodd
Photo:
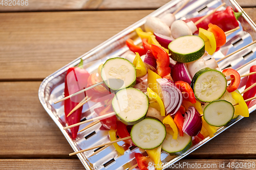
<path fill-rule="evenodd" d="M 157 93 L 155 93 L 148 87 L 146 89 L 146 95 L 149 101 L 155 101 L 154 103 L 151 103 L 149 107 L 157 109 L 160 112 L 161 116 L 165 116 L 165 108 L 163 105 L 163 101 L 160 99 L 159 95 L 157 95 Z"/>

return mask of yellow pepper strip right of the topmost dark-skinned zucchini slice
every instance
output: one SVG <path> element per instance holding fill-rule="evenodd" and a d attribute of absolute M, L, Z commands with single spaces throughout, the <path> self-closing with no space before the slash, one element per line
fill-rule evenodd
<path fill-rule="evenodd" d="M 199 28 L 199 37 L 203 38 L 205 43 L 205 50 L 209 55 L 213 55 L 216 51 L 217 45 L 214 37 L 214 33 Z"/>

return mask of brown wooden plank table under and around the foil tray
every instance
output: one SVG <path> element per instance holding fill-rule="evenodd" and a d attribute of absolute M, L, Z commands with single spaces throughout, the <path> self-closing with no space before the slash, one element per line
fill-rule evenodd
<path fill-rule="evenodd" d="M 200 1 L 200 0 L 199 0 Z M 38 100 L 41 81 L 168 0 L 0 5 L 0 169 L 84 169 Z M 238 0 L 256 21 L 256 1 Z M 251 114 L 180 162 L 256 162 Z M 248 168 L 247 169 L 252 169 Z"/>

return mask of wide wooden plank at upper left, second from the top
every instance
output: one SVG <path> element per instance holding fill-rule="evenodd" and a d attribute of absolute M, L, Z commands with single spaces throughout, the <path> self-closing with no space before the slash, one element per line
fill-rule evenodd
<path fill-rule="evenodd" d="M 0 13 L 0 79 L 42 80 L 151 12 Z"/>

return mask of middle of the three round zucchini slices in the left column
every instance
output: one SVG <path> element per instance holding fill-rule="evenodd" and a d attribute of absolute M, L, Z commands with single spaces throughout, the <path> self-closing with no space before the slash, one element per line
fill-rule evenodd
<path fill-rule="evenodd" d="M 130 87 L 116 93 L 112 106 L 121 122 L 134 125 L 146 117 L 148 98 L 142 91 Z"/>

